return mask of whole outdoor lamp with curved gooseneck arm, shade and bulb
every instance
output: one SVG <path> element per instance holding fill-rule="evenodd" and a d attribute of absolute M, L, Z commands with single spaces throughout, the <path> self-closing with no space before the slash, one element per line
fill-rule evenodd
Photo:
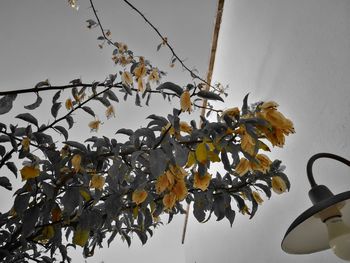
<path fill-rule="evenodd" d="M 350 161 L 331 153 L 310 158 L 306 171 L 313 206 L 298 216 L 288 228 L 281 247 L 290 254 L 310 254 L 331 248 L 341 259 L 350 261 L 350 191 L 334 195 L 318 185 L 312 165 L 319 158 L 331 158 L 350 166 Z"/>

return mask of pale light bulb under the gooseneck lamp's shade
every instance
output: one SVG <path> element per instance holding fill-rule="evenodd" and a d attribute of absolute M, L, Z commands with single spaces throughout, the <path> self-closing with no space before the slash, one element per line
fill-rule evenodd
<path fill-rule="evenodd" d="M 341 217 L 333 217 L 326 222 L 328 229 L 329 246 L 334 254 L 350 261 L 350 227 L 344 224 Z"/>

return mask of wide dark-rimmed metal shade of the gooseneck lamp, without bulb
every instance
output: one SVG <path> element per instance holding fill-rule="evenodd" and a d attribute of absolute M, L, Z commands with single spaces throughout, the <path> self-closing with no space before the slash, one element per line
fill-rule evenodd
<path fill-rule="evenodd" d="M 290 254 L 310 254 L 330 248 L 327 226 L 318 213 L 332 206 L 337 206 L 343 222 L 350 226 L 350 191 L 348 191 L 315 204 L 295 219 L 282 240 L 282 249 Z"/>

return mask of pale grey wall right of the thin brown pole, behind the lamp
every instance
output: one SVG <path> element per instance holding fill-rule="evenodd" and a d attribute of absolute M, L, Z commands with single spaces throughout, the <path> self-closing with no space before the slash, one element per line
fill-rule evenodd
<path fill-rule="evenodd" d="M 330 251 L 294 256 L 280 249 L 290 223 L 310 206 L 306 162 L 315 153 L 350 158 L 350 1 L 226 1 L 214 79 L 230 84 L 232 105 L 275 100 L 296 134 L 273 155 L 287 166 L 292 188 L 273 196 L 252 220 L 190 222 L 186 262 L 342 262 Z M 314 165 L 317 182 L 349 190 L 350 169 Z"/>

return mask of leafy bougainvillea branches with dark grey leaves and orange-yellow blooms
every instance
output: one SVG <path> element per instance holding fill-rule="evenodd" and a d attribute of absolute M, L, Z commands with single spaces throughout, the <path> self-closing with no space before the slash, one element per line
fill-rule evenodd
<path fill-rule="evenodd" d="M 69 2 L 76 8 L 76 1 Z M 94 20 L 87 23 L 99 27 Z M 134 57 L 126 44 L 111 41 L 110 31 L 102 32 L 100 45 L 111 43 L 120 72 L 100 82 L 76 79 L 63 87 L 39 82 L 33 89 L 36 101 L 17 115 L 21 125 L 0 123 L 0 168 L 20 174 L 23 181 L 12 209 L 0 214 L 0 258 L 5 262 L 70 261 L 69 245 L 92 256 L 96 247 L 116 237 L 130 245 L 133 234 L 145 243 L 165 215 L 170 222 L 184 213 L 184 204 L 193 205 L 199 222 L 214 214 L 232 225 L 237 212 L 252 218 L 271 190 L 281 194 L 290 187 L 281 161 L 268 157 L 270 147 L 283 147 L 285 136 L 294 132 L 276 102 L 250 105 L 247 95 L 240 108 L 208 108 L 216 120 L 186 122 L 182 116 L 198 109 L 196 101 L 223 101 L 223 91 L 207 91 L 205 83 L 162 82 L 163 71 Z M 52 92 L 49 124 L 30 113 L 40 107 L 42 92 Z M 91 101 L 99 101 L 106 118 L 117 121 L 114 105 L 120 98 L 151 107 L 151 96 L 157 95 L 178 106 L 170 114 L 148 116 L 146 127 L 119 129 L 123 141 L 99 133 L 102 123 L 95 110 L 101 109 L 91 108 Z M 0 98 L 0 114 L 18 107 L 17 96 L 21 92 Z M 74 119 L 83 113 L 91 115 L 91 137 L 70 140 Z M 53 139 L 57 134 L 65 140 Z M 12 189 L 7 176 L 0 184 Z M 61 259 L 54 257 L 56 252 Z"/>

